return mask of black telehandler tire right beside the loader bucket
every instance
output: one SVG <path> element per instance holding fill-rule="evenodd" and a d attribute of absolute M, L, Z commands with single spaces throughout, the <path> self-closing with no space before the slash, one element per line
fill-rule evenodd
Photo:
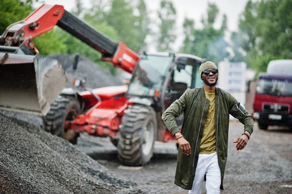
<path fill-rule="evenodd" d="M 73 121 L 80 112 L 80 104 L 72 96 L 59 95 L 45 117 L 42 117 L 42 128 L 52 135 L 59 136 L 72 144 L 77 143 L 79 133 L 65 130 L 66 120 Z"/>

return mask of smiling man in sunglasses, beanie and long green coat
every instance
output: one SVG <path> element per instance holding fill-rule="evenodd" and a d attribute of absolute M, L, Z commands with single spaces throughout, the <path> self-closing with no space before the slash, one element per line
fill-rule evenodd
<path fill-rule="evenodd" d="M 189 194 L 201 194 L 206 178 L 207 194 L 223 190 L 227 160 L 229 114 L 244 124 L 244 133 L 236 140 L 236 150 L 247 144 L 253 132 L 254 120 L 228 92 L 217 88 L 218 69 L 215 63 L 204 61 L 200 66 L 203 87 L 186 90 L 169 106 L 162 120 L 177 138 L 178 153 L 174 183 Z M 182 131 L 175 117 L 184 113 Z"/>

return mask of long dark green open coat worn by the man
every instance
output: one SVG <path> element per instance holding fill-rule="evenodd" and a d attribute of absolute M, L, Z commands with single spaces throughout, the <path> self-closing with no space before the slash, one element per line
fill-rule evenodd
<path fill-rule="evenodd" d="M 254 128 L 254 120 L 231 94 L 220 88 L 216 88 L 215 93 L 216 152 L 221 171 L 220 189 L 223 190 L 223 177 L 228 149 L 229 114 L 243 123 L 244 131 L 249 131 L 251 134 Z M 165 126 L 174 135 L 180 132 L 175 122 L 175 117 L 179 116 L 181 112 L 184 114 L 181 132 L 186 141 L 190 143 L 192 153 L 187 156 L 179 149 L 174 180 L 174 183 L 183 189 L 192 189 L 208 106 L 209 100 L 206 99 L 202 87 L 188 89 L 162 115 Z"/>

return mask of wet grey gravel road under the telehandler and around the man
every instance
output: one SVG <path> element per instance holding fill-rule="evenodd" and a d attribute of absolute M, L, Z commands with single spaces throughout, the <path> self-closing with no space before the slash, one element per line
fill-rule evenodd
<path fill-rule="evenodd" d="M 247 146 L 235 150 L 232 141 L 242 133 L 243 125 L 231 122 L 228 160 L 222 194 L 292 194 L 292 132 L 283 129 L 259 130 Z M 116 149 L 106 138 L 81 135 L 76 147 L 96 159 L 118 176 L 138 183 L 149 194 L 187 194 L 174 185 L 177 148 L 175 143 L 155 143 L 154 157 L 144 167 L 126 167 L 119 163 Z M 202 193 L 206 193 L 203 187 Z"/>

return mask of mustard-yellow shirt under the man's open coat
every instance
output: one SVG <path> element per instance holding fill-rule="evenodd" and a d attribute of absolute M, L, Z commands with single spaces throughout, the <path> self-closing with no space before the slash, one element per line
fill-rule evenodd
<path fill-rule="evenodd" d="M 203 136 L 201 139 L 200 154 L 212 154 L 216 152 L 215 135 L 215 90 L 204 89 L 206 98 L 210 101 L 206 122 L 204 124 Z"/>

